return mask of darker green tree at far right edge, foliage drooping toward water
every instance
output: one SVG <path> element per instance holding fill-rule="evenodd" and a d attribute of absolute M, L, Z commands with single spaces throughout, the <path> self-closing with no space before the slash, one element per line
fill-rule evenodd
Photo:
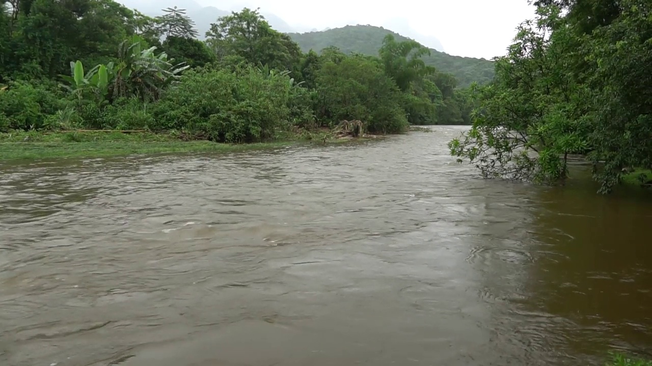
<path fill-rule="evenodd" d="M 623 168 L 652 168 L 652 4 L 619 5 L 617 18 L 593 31 L 587 56 L 595 95 L 589 158 L 602 191 L 620 181 Z"/>

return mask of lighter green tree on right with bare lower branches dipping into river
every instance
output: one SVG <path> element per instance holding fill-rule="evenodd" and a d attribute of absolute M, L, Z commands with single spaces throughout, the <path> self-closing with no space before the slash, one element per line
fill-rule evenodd
<path fill-rule="evenodd" d="M 538 14 L 497 59 L 494 82 L 476 91 L 481 104 L 471 131 L 449 144 L 486 178 L 556 182 L 567 176 L 567 156 L 588 146 L 586 90 L 565 72 L 574 57 L 566 48 L 573 29 L 557 7 Z"/>

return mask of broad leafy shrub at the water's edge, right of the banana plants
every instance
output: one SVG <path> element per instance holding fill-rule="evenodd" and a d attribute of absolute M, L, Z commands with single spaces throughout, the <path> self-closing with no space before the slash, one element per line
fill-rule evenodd
<path fill-rule="evenodd" d="M 158 128 L 189 128 L 220 142 L 270 139 L 289 128 L 291 81 L 254 68 L 186 72 L 153 106 Z"/>

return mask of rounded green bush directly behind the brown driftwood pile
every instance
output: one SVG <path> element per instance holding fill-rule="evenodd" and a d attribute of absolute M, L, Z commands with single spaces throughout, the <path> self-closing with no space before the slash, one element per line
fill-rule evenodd
<path fill-rule="evenodd" d="M 331 126 L 341 120 L 363 120 L 369 132 L 392 134 L 408 128 L 400 90 L 377 60 L 349 56 L 339 63 L 326 61 L 316 85 L 318 119 Z"/>

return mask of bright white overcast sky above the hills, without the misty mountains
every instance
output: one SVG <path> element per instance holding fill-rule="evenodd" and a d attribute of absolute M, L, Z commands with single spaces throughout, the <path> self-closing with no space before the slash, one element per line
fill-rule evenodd
<path fill-rule="evenodd" d="M 197 0 L 224 10 L 260 7 L 302 30 L 407 20 L 435 36 L 451 55 L 490 59 L 505 54 L 516 26 L 534 16 L 527 0 Z M 391 29 L 391 27 L 388 27 Z M 396 29 L 398 33 L 400 31 Z M 416 37 L 415 37 L 416 38 Z M 419 39 L 417 39 L 419 40 Z"/>

